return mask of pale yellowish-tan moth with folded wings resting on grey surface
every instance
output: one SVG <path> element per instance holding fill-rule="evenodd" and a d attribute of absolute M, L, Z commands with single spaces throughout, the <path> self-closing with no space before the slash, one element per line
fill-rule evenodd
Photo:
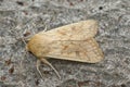
<path fill-rule="evenodd" d="M 96 21 L 87 20 L 40 32 L 30 38 L 26 47 L 28 51 L 39 59 L 37 63 L 41 61 L 50 65 L 60 77 L 57 71 L 47 59 L 86 63 L 96 63 L 104 59 L 104 54 L 94 39 L 98 27 Z"/>

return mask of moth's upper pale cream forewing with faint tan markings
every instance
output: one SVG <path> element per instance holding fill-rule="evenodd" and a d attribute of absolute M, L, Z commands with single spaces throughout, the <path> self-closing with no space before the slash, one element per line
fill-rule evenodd
<path fill-rule="evenodd" d="M 40 32 L 38 35 L 52 40 L 82 40 L 94 37 L 98 33 L 98 22 L 94 20 L 81 21 L 57 27 L 48 32 Z"/>

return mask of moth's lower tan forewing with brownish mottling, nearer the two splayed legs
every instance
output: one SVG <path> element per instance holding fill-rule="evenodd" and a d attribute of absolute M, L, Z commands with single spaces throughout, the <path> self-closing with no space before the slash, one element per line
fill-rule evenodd
<path fill-rule="evenodd" d="M 103 53 L 94 38 L 54 41 L 46 57 L 88 63 L 103 60 Z"/>

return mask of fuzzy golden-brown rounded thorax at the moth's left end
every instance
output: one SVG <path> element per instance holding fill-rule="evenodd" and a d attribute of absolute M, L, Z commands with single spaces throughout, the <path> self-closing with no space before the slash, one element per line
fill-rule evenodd
<path fill-rule="evenodd" d="M 48 45 L 49 41 L 46 36 L 37 34 L 30 38 L 26 46 L 26 50 L 30 51 L 38 58 L 42 58 L 49 51 Z"/>

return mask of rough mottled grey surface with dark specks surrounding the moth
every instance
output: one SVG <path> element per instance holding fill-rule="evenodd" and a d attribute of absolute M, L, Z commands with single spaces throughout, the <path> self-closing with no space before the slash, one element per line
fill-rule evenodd
<path fill-rule="evenodd" d="M 26 54 L 23 39 L 93 18 L 105 59 L 96 64 L 49 60 L 61 74 Z M 0 87 L 130 87 L 130 0 L 0 0 Z"/>

